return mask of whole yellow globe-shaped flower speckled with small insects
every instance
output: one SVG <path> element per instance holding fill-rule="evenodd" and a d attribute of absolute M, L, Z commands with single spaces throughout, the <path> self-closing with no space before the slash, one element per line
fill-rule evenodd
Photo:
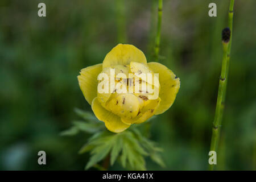
<path fill-rule="evenodd" d="M 132 88 L 129 93 L 120 93 L 117 87 L 110 90 L 111 86 L 107 88 L 109 92 L 99 92 L 102 82 L 98 81 L 98 75 L 105 73 L 111 80 L 110 72 L 113 69 L 114 85 L 119 84 L 120 89 L 122 87 L 127 90 L 135 86 L 139 88 L 139 92 Z M 118 73 L 129 78 L 119 77 Z M 152 77 L 156 82 L 159 79 L 159 84 L 155 85 L 155 82 L 153 84 L 143 78 L 140 80 L 138 75 L 141 73 L 158 73 L 158 78 Z M 132 81 L 130 75 L 134 78 Z M 102 64 L 81 69 L 77 78 L 85 100 L 92 105 L 96 117 L 105 123 L 108 130 L 115 133 L 126 130 L 133 123 L 142 123 L 153 115 L 164 113 L 174 103 L 180 88 L 180 79 L 170 69 L 160 63 L 147 63 L 144 53 L 128 44 L 118 44 L 106 55 Z M 150 85 L 154 93 L 159 93 L 158 96 L 153 98 L 151 92 L 144 92 L 141 86 L 137 87 L 142 82 L 146 82 L 146 86 Z M 109 83 L 111 85 L 110 81 Z M 153 99 L 149 99 L 150 97 Z"/>

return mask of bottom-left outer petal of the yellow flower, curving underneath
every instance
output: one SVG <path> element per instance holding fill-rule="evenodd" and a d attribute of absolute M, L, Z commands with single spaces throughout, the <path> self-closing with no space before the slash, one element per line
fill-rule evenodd
<path fill-rule="evenodd" d="M 102 107 L 97 97 L 92 101 L 92 110 L 96 117 L 105 123 L 109 131 L 119 133 L 130 127 L 130 125 L 123 123 L 120 117 Z"/>

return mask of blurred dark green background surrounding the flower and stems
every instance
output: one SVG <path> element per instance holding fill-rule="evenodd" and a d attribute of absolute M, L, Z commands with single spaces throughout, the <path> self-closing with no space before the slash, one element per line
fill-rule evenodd
<path fill-rule="evenodd" d="M 46 3 L 39 18 L 38 3 Z M 217 17 L 208 16 L 210 2 Z M 229 1 L 164 0 L 160 63 L 180 77 L 174 105 L 152 121 L 151 139 L 166 168 L 206 170 Z M 233 44 L 217 169 L 256 169 L 255 0 L 236 0 Z M 91 111 L 79 89 L 82 68 L 101 63 L 118 43 L 154 60 L 157 1 L 0 1 L 0 169 L 84 169 L 77 151 L 90 135 L 61 137 Z M 38 151 L 47 165 L 38 165 Z M 115 164 L 110 169 L 122 169 Z"/>

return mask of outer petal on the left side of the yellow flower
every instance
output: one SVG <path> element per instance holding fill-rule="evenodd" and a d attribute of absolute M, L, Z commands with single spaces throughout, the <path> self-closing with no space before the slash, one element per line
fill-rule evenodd
<path fill-rule="evenodd" d="M 102 71 L 102 64 L 96 64 L 81 69 L 80 75 L 77 76 L 79 86 L 84 94 L 85 100 L 91 105 L 95 97 L 97 97 L 98 74 Z"/>

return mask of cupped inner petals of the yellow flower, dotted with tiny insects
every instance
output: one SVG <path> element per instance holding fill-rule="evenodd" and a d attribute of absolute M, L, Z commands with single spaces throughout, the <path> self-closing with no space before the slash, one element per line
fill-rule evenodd
<path fill-rule="evenodd" d="M 98 99 L 101 105 L 125 119 L 128 124 L 141 117 L 143 109 L 158 98 L 158 77 L 147 65 L 131 62 L 130 65 L 105 68 L 101 73 L 105 74 L 98 76 Z"/>

